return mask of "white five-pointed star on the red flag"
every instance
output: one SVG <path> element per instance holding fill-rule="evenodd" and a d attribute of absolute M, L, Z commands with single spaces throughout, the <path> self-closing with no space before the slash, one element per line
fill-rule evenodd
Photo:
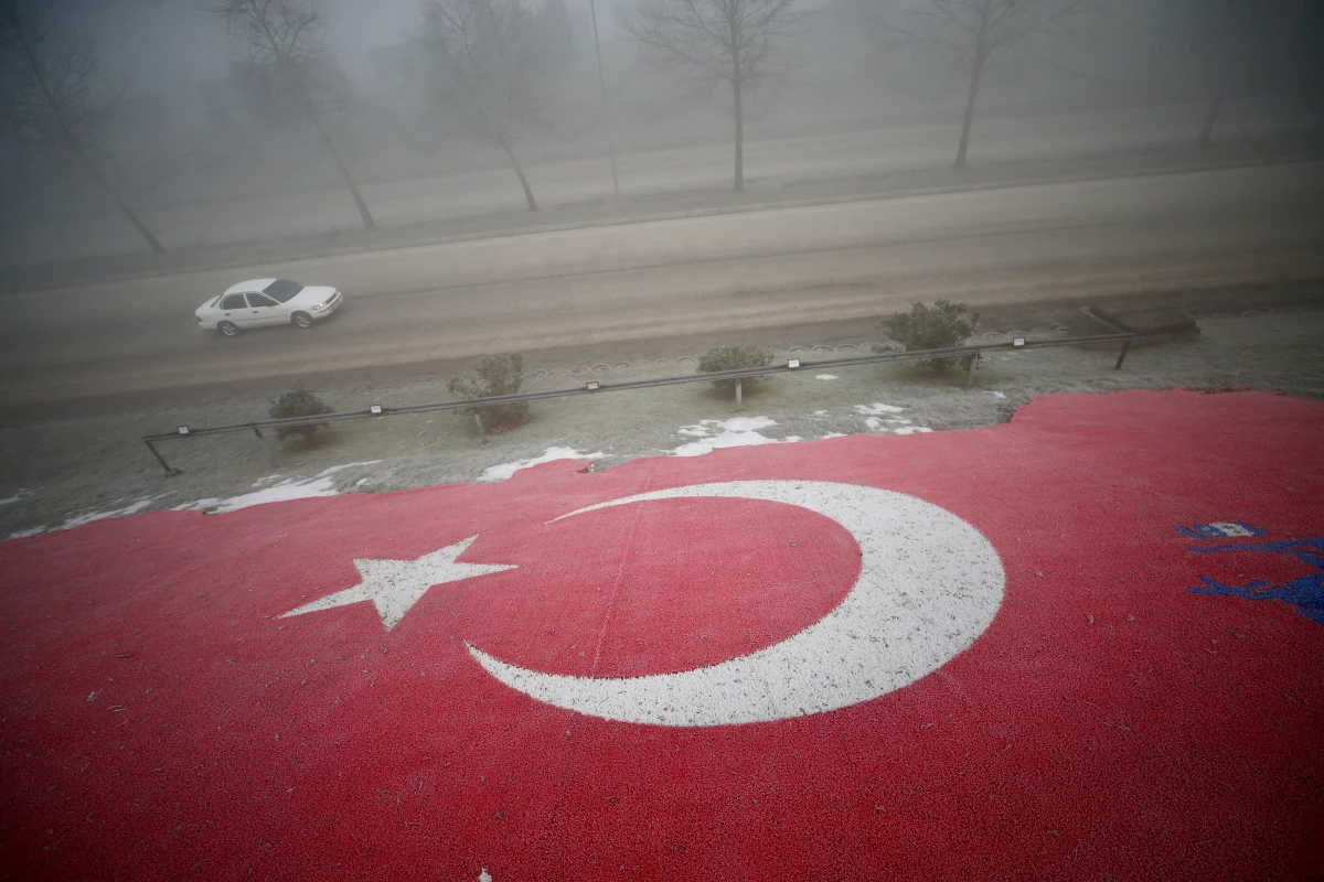
<path fill-rule="evenodd" d="M 463 554 L 465 549 L 477 538 L 477 536 L 471 536 L 463 542 L 448 545 L 413 561 L 355 559 L 354 566 L 363 577 L 359 584 L 336 591 L 320 600 L 305 603 L 281 618 L 372 600 L 372 606 L 377 607 L 377 614 L 381 616 L 381 624 L 387 627 L 387 631 L 391 631 L 434 584 L 515 569 L 514 565 L 506 563 L 457 562 L 455 558 Z"/>

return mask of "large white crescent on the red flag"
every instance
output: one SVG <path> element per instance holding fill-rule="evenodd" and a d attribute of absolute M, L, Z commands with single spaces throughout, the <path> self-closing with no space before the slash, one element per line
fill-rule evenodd
<path fill-rule="evenodd" d="M 707 668 L 571 677 L 519 668 L 466 643 L 469 652 L 511 689 L 592 717 L 658 726 L 768 722 L 847 707 L 915 682 L 969 648 L 1002 603 L 1002 563 L 978 530 L 914 496 L 871 487 L 696 484 L 589 505 L 555 520 L 682 497 L 768 500 L 829 517 L 859 543 L 859 579 L 804 631 Z"/>

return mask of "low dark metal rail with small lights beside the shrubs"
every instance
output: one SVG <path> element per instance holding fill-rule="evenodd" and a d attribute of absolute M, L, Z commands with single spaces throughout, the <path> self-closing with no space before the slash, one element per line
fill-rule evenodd
<path fill-rule="evenodd" d="M 207 428 L 192 428 L 189 426 L 180 426 L 172 432 L 156 432 L 154 435 L 143 435 L 143 443 L 147 444 L 147 450 L 152 452 L 156 461 L 160 463 L 162 468 L 166 469 L 167 475 L 179 475 L 180 469 L 172 468 L 169 463 L 160 455 L 156 450 L 156 442 L 171 440 L 175 438 L 200 438 L 203 435 L 222 435 L 226 432 L 240 432 L 252 431 L 263 443 L 266 438 L 262 435 L 263 428 L 281 428 L 286 426 L 308 426 L 311 423 L 342 423 L 350 419 L 371 419 L 377 417 L 401 417 L 405 414 L 429 414 L 438 410 L 463 410 L 467 407 L 483 407 L 489 405 L 510 405 L 522 401 L 545 401 L 548 398 L 569 398 L 571 395 L 596 395 L 604 391 L 628 391 L 632 389 L 653 389 L 655 386 L 677 386 L 681 383 L 691 382 L 712 382 L 715 380 L 736 380 L 741 381 L 745 377 L 761 377 L 767 374 L 781 374 L 790 373 L 796 370 L 812 370 L 824 368 L 849 368 L 853 365 L 873 365 L 888 361 L 919 361 L 924 358 L 957 358 L 965 364 L 965 387 L 969 389 L 974 385 L 974 370 L 978 368 L 980 357 L 985 352 L 1001 352 L 1001 350 L 1022 350 L 1022 349 L 1049 349 L 1051 346 L 1075 346 L 1087 345 L 1098 342 L 1120 342 L 1121 352 L 1117 356 L 1117 364 L 1115 370 L 1121 370 L 1121 362 L 1127 358 L 1127 352 L 1131 349 L 1132 341 L 1136 339 L 1133 333 L 1106 333 L 1095 335 L 1090 337 L 1063 337 L 1061 340 L 1027 340 L 1025 337 L 1016 337 L 1012 342 L 989 342 L 978 344 L 973 346 L 948 346 L 944 349 L 916 349 L 912 352 L 883 352 L 873 356 L 855 356 L 853 358 L 828 358 L 825 361 L 814 361 L 809 364 L 801 362 L 800 358 L 790 358 L 784 364 L 767 365 L 763 368 L 737 368 L 733 370 L 716 370 L 712 373 L 694 373 L 685 374 L 681 377 L 659 377 L 657 380 L 636 380 L 632 382 L 621 383 L 605 383 L 596 380 L 591 380 L 583 386 L 576 386 L 575 389 L 553 389 L 549 391 L 526 391 L 515 395 L 493 395 L 489 398 L 469 398 L 465 401 L 444 401 L 433 405 L 410 405 L 408 407 L 388 407 L 385 405 L 372 405 L 367 410 L 356 410 L 344 414 L 323 414 L 320 417 L 286 417 L 283 419 L 260 419 L 252 423 L 234 423 L 233 426 L 211 426 Z M 736 383 L 736 409 L 744 409 L 744 385 Z M 482 417 L 474 414 L 474 421 L 478 426 L 478 435 L 487 442 L 487 436 L 483 432 Z"/>

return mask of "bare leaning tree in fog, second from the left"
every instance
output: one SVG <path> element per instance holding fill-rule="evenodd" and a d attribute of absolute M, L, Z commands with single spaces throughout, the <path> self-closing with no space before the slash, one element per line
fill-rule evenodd
<path fill-rule="evenodd" d="M 327 16 L 320 0 L 218 0 L 211 12 L 225 20 L 248 75 L 273 107 L 308 120 L 335 160 L 363 225 L 375 229 L 368 204 L 327 128 L 328 116 L 344 110 L 347 99 L 327 52 Z"/>

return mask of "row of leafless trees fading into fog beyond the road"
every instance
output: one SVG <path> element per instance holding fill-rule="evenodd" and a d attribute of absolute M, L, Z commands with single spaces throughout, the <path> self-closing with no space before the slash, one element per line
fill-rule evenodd
<path fill-rule="evenodd" d="M 211 107 L 230 119 L 257 120 L 257 138 L 306 132 L 334 167 L 364 227 L 375 221 L 342 148 L 348 120 L 361 107 L 361 87 L 348 77 L 327 41 L 331 25 L 322 0 L 204 0 L 224 30 L 230 53 L 228 91 L 237 104 Z M 751 119 L 776 100 L 810 61 L 824 62 L 833 40 L 849 38 L 870 58 L 861 78 L 876 78 L 906 60 L 916 82 L 959 78 L 961 130 L 955 168 L 977 138 L 981 87 L 990 70 L 1013 66 L 1031 52 L 1070 45 L 1113 15 L 1117 0 L 621 0 L 610 7 L 620 40 L 641 70 L 674 83 L 688 100 L 723 108 L 733 147 L 733 188 L 745 186 L 744 143 Z M 605 5 L 598 3 L 597 5 Z M 1209 147 L 1226 98 L 1251 89 L 1324 89 L 1308 38 L 1320 33 L 1313 0 L 1152 0 L 1145 21 L 1164 52 L 1197 71 L 1186 98 L 1206 102 L 1193 143 Z M 0 139 L 12 161 L 60 164 L 101 189 L 154 251 L 163 246 L 113 181 L 117 115 L 132 95 L 102 65 L 93 33 L 50 15 L 40 0 L 0 0 Z M 593 9 L 597 15 L 597 9 Z M 1286 21 L 1284 17 L 1291 19 Z M 1287 36 L 1284 36 L 1287 34 Z M 1296 34 L 1300 42 L 1274 45 Z M 392 58 L 396 86 L 437 132 L 490 145 L 508 165 L 528 210 L 539 210 L 524 172 L 526 139 L 576 141 L 610 134 L 621 118 L 620 83 L 630 71 L 601 78 L 596 94 L 567 86 L 583 52 L 564 0 L 420 0 L 417 16 Z M 824 46 L 828 46 L 825 50 Z M 1319 45 L 1313 45 L 1317 53 Z M 1164 54 L 1166 53 L 1166 54 Z M 1058 50 L 1057 57 L 1071 53 Z M 1291 63 L 1283 62 L 1288 58 Z M 830 60 L 829 60 L 830 61 Z M 1278 67 L 1275 67 L 1275 61 Z M 600 63 L 600 60 L 598 60 Z M 1115 65 L 1121 67 L 1124 65 Z M 927 71 L 927 73 L 925 73 Z M 1268 73 L 1266 73 L 1268 71 Z M 1278 71 L 1278 73 L 1275 73 Z M 1115 71 L 1113 71 L 1115 73 Z M 1275 79 L 1276 77 L 1276 79 Z M 609 85 L 612 83 L 612 85 Z M 214 103 L 214 97 L 213 97 Z M 404 100 L 404 99 L 401 99 Z M 237 107 L 237 110 L 236 110 Z M 226 145 L 242 151 L 254 135 L 232 126 Z M 274 135 L 273 135 L 274 138 Z M 361 138 L 361 134 L 360 134 Z M 614 163 L 614 144 L 613 163 Z M 305 163 L 311 153 L 297 153 Z M 181 163 L 189 157 L 181 159 Z M 614 173 L 614 165 L 613 165 Z"/>

